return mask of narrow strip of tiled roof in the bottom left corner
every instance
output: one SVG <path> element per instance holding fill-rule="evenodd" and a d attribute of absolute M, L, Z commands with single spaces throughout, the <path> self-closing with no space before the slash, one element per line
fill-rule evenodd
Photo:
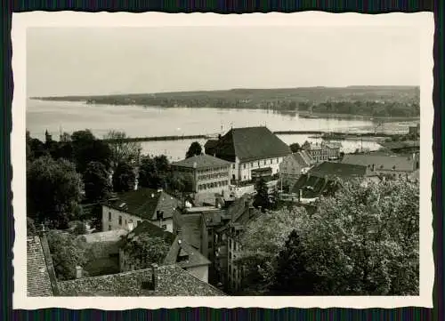
<path fill-rule="evenodd" d="M 39 237 L 27 238 L 27 293 L 28 296 L 53 296 Z"/>

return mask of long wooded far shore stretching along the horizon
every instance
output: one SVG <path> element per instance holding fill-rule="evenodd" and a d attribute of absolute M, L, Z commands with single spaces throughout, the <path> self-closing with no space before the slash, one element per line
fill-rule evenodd
<path fill-rule="evenodd" d="M 380 117 L 420 116 L 417 86 L 350 86 L 286 89 L 232 89 L 100 96 L 39 97 L 40 100 L 164 108 L 252 108 L 320 114 Z"/>

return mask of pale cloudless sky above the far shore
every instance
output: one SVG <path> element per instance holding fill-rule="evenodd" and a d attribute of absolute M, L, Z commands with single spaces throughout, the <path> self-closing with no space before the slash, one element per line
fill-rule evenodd
<path fill-rule="evenodd" d="M 412 27 L 28 28 L 28 96 L 418 85 Z"/>

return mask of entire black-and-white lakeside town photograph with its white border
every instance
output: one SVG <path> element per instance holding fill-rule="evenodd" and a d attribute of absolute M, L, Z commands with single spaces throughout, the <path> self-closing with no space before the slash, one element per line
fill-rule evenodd
<path fill-rule="evenodd" d="M 432 15 L 312 13 L 16 28 L 17 295 L 432 304 Z"/>

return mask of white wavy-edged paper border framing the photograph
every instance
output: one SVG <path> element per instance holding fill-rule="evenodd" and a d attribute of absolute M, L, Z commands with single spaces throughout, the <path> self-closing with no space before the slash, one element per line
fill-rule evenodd
<path fill-rule="evenodd" d="M 26 30 L 30 27 L 166 27 L 166 26 L 417 26 L 422 33 L 420 72 L 421 167 L 420 167 L 420 295 L 410 297 L 168 297 L 113 298 L 51 297 L 28 298 L 26 293 Z M 252 13 L 218 15 L 214 13 L 166 14 L 23 12 L 12 15 L 12 192 L 15 219 L 13 309 L 135 309 L 176 307 L 263 307 L 263 308 L 395 308 L 433 307 L 433 213 L 431 182 L 433 175 L 433 32 L 432 12 L 388 13 Z M 44 81 L 44 80 L 43 80 Z"/>

